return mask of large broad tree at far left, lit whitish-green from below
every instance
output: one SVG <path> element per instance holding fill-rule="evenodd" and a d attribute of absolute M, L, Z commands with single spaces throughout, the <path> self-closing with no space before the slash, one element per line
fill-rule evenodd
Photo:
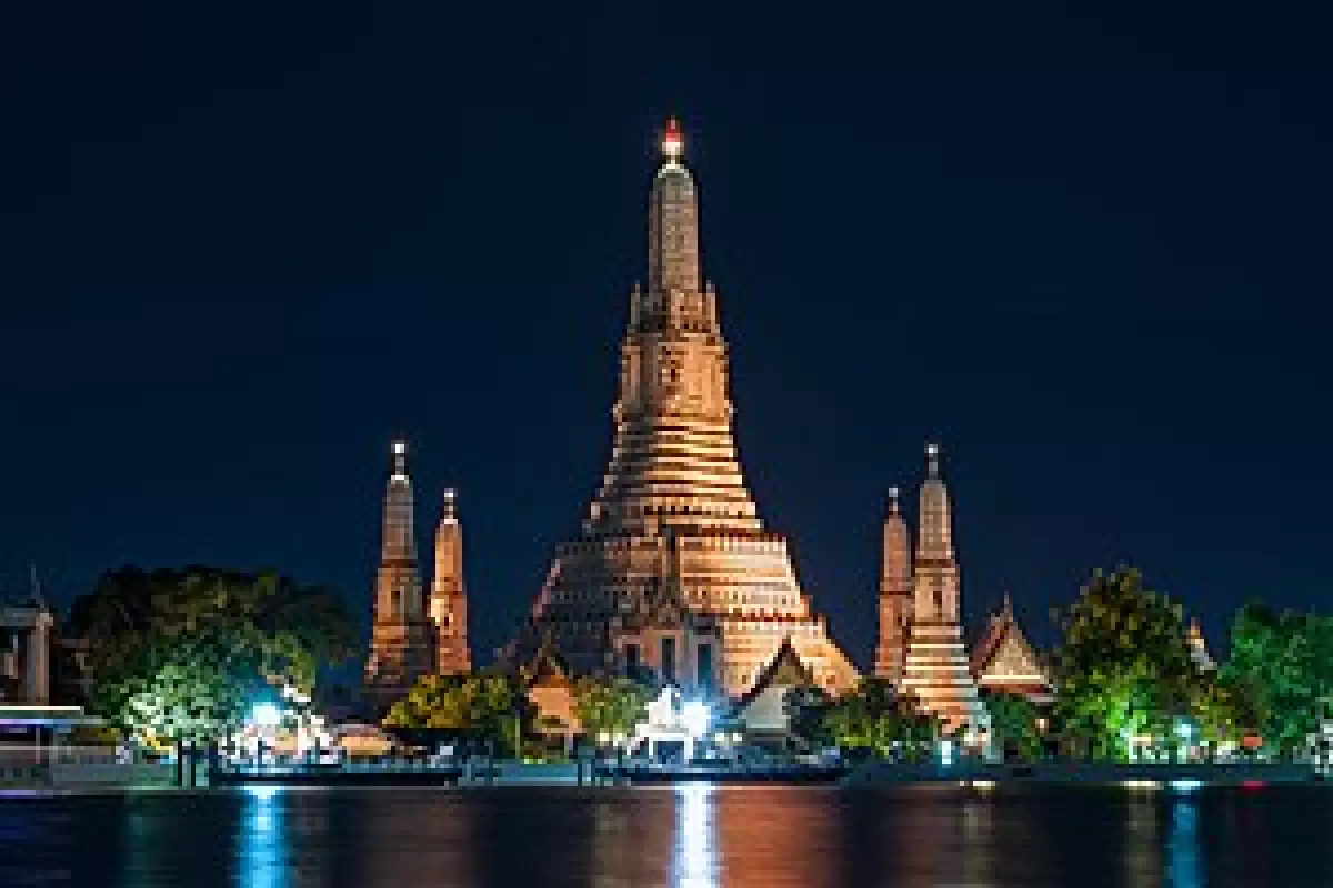
<path fill-rule="evenodd" d="M 89 642 L 91 708 L 173 743 L 217 739 L 284 686 L 309 695 L 323 666 L 355 651 L 352 620 L 325 590 L 211 567 L 104 574 L 69 631 Z"/>

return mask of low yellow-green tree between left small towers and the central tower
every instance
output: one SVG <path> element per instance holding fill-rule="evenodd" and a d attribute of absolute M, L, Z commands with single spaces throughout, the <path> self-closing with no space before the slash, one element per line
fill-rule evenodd
<path fill-rule="evenodd" d="M 503 672 L 423 675 L 389 707 L 387 728 L 435 728 L 467 734 L 515 755 L 532 724 L 533 707 L 521 682 Z"/>

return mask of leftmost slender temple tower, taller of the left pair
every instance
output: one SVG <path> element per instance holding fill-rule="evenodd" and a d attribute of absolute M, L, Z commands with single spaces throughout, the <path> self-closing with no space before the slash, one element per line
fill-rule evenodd
<path fill-rule="evenodd" d="M 375 576 L 375 624 L 365 688 L 383 704 L 431 671 L 431 624 L 417 572 L 412 479 L 405 441 L 393 442 L 393 471 L 384 494 L 380 568 Z"/>

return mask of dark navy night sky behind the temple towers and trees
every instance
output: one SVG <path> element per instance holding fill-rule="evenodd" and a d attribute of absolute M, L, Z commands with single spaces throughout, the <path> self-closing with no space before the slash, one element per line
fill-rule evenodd
<path fill-rule="evenodd" d="M 1121 560 L 1214 635 L 1253 594 L 1328 603 L 1328 21 L 24 5 L 11 594 L 32 562 L 64 600 L 207 562 L 368 615 L 405 433 L 423 542 L 456 485 L 475 648 L 505 642 L 609 451 L 677 113 L 748 478 L 860 664 L 885 489 L 914 505 L 928 437 L 974 620 L 1010 588 L 1045 638 Z"/>

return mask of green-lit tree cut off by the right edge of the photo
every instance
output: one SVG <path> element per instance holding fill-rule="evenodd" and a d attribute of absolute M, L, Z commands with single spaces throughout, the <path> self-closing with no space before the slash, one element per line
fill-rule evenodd
<path fill-rule="evenodd" d="M 1221 671 L 1265 746 L 1290 755 L 1333 699 L 1333 619 L 1246 603 L 1232 623 Z"/>

